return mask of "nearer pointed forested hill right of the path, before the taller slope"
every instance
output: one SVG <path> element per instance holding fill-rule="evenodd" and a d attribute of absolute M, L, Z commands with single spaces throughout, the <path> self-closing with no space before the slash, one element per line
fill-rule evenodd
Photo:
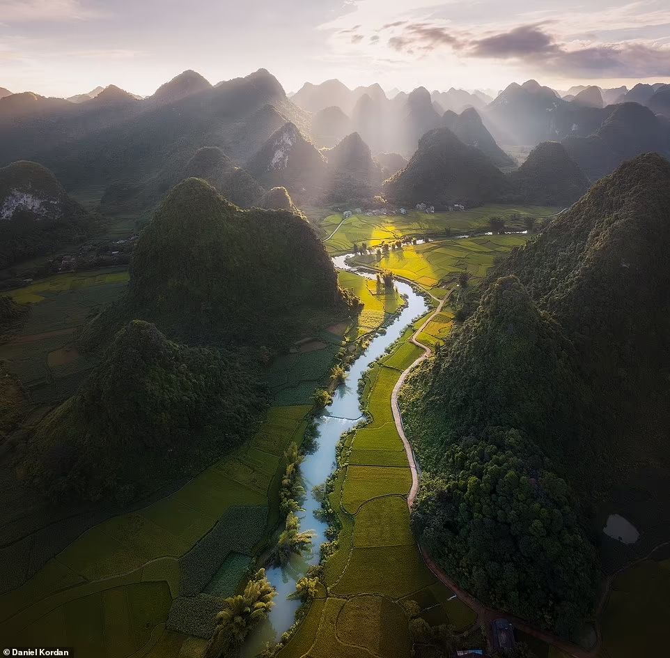
<path fill-rule="evenodd" d="M 538 437 L 550 447 L 574 422 L 573 368 L 559 326 L 505 277 L 401 397 L 423 469 L 412 514 L 421 543 L 483 602 L 566 636 L 591 612 L 598 569 L 547 459 L 561 451 Z"/>

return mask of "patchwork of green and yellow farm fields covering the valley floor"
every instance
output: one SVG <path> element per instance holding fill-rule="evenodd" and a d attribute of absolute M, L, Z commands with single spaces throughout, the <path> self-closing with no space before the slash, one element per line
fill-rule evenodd
<path fill-rule="evenodd" d="M 402 226 L 394 223 L 397 217 L 363 215 L 344 222 L 337 231 L 341 217 L 337 221 L 327 217 L 319 230 L 331 236 L 326 245 L 336 254 L 364 241 L 378 245 L 404 235 L 444 233 L 446 228 L 453 234 L 481 228 L 488 213 L 506 211 L 539 216 L 554 209 L 445 213 L 457 215 L 453 221 L 412 213 Z M 515 221 L 521 227 L 522 220 Z M 437 303 L 457 289 L 458 274 L 467 270 L 476 284 L 497 255 L 526 239 L 520 235 L 436 239 L 391 250 L 381 259 L 374 254 L 355 259 L 366 268 L 391 270 L 430 293 L 433 309 L 407 328 L 366 373 L 362 406 L 371 422 L 343 441 L 329 495 L 341 525 L 337 544 L 324 563 L 320 593 L 280 650 L 281 658 L 407 658 L 410 638 L 403 602 L 410 599 L 431 624 L 453 625 L 463 648 L 485 645 L 476 613 L 436 578 L 416 546 L 407 505 L 412 471 L 392 398 L 400 376 L 423 354 L 424 346 L 432 348 L 449 335 L 453 311 L 446 303 L 437 308 Z M 398 309 L 397 294 L 380 295 L 373 281 L 350 272 L 341 272 L 339 280 L 364 301 L 359 325 L 325 327 L 276 359 L 268 375 L 274 406 L 254 439 L 235 454 L 169 496 L 80 531 L 76 540 L 48 560 L 43 558 L 51 540 L 40 544 L 36 530 L 44 523 L 36 521 L 33 507 L 29 513 L 17 506 L 1 512 L 2 551 L 8 564 L 17 555 L 7 548 L 8 540 L 20 537 L 21 523 L 31 519 L 24 528 L 29 540 L 20 545 L 30 559 L 13 564 L 33 575 L 0 596 L 0 636 L 6 643 L 70 645 L 82 655 L 107 658 L 202 654 L 217 611 L 211 597 L 238 590 L 279 521 L 283 451 L 292 441 L 302 440 L 313 411 L 313 390 L 327 379 L 345 342 L 364 339 Z M 0 359 L 26 383 L 36 415 L 74 390 L 88 372 L 92 363 L 77 352 L 73 333 L 88 312 L 116 298 L 126 281 L 123 270 L 100 270 L 58 275 L 13 293 L 17 301 L 33 303 L 33 309 L 24 326 L 0 345 Z M 5 473 L 4 491 L 10 489 L 9 475 Z M 26 499 L 26 505 L 34 503 Z M 663 645 L 662 622 L 670 616 L 666 596 L 670 560 L 665 553 L 653 558 L 613 579 L 600 616 L 598 658 L 646 655 Z M 36 568 L 33 562 L 44 566 Z M 519 638 L 538 658 L 568 655 L 534 636 L 520 633 Z"/>

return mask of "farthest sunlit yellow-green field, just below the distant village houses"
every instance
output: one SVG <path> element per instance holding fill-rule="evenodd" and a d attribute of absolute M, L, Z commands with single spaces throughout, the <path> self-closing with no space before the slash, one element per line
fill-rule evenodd
<path fill-rule="evenodd" d="M 444 236 L 446 231 L 451 235 L 465 234 L 470 231 L 488 231 L 489 219 L 493 216 L 505 217 L 507 226 L 513 229 L 524 229 L 523 217 L 547 217 L 554 215 L 561 208 L 545 206 L 513 206 L 507 204 L 488 204 L 472 208 L 462 213 L 421 213 L 409 211 L 407 215 L 388 217 L 368 217 L 352 215 L 332 238 L 328 238 L 342 222 L 342 213 L 327 215 L 322 220 L 313 220 L 330 254 L 344 254 L 352 251 L 354 244 L 366 243 L 374 247 L 382 242 L 398 240 L 404 236 Z"/>

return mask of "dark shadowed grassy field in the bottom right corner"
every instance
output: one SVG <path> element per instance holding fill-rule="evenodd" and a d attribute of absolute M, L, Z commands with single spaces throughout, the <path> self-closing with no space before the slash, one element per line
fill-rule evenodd
<path fill-rule="evenodd" d="M 670 619 L 670 560 L 645 560 L 616 576 L 600 620 L 601 658 L 655 655 Z"/>

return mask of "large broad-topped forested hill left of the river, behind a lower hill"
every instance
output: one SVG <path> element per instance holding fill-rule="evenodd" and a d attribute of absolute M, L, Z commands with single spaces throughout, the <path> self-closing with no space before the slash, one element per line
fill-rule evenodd
<path fill-rule="evenodd" d="M 242 211 L 189 178 L 141 233 L 127 296 L 104 320 L 146 319 L 187 341 L 276 344 L 295 339 L 296 314 L 338 305 L 332 262 L 302 217 Z"/>

